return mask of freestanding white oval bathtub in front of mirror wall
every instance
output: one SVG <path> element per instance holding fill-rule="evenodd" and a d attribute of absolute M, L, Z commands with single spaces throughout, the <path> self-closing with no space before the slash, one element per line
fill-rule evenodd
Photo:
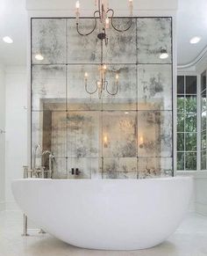
<path fill-rule="evenodd" d="M 192 179 L 17 179 L 18 205 L 68 244 L 136 250 L 163 242 L 189 206 Z"/>

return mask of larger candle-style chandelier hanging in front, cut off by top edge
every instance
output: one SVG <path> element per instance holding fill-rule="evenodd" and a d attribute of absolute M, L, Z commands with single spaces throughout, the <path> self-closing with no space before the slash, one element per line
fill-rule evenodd
<path fill-rule="evenodd" d="M 95 0 L 95 7 L 97 8 L 97 10 L 94 11 L 94 14 L 93 14 L 94 26 L 92 30 L 89 31 L 88 33 L 81 33 L 79 29 L 79 18 L 80 18 L 80 2 L 79 1 L 76 2 L 75 7 L 76 7 L 75 14 L 76 14 L 77 33 L 79 33 L 82 36 L 86 36 L 93 33 L 97 26 L 97 20 L 99 20 L 102 32 L 98 33 L 97 37 L 101 40 L 104 40 L 106 46 L 108 44 L 107 30 L 110 28 L 110 19 L 111 19 L 111 27 L 118 32 L 125 32 L 129 30 L 130 27 L 132 26 L 132 9 L 133 9 L 132 0 L 129 0 L 130 24 L 124 29 L 119 29 L 114 25 L 113 23 L 114 11 L 113 9 L 109 8 L 108 0 Z"/>

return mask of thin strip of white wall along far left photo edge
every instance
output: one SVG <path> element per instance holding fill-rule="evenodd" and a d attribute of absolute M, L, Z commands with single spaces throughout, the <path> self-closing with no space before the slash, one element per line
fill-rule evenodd
<path fill-rule="evenodd" d="M 0 129 L 5 130 L 5 84 L 4 68 L 0 67 Z M 0 211 L 5 201 L 5 134 L 0 132 Z"/>

